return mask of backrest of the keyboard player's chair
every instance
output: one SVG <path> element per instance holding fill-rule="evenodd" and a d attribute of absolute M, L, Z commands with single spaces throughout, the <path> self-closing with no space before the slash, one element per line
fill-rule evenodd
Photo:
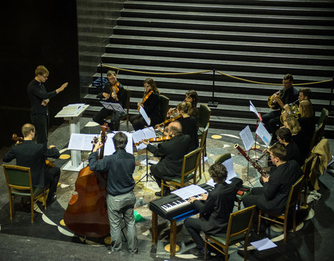
<path fill-rule="evenodd" d="M 226 244 L 228 244 L 230 237 L 241 235 L 242 233 L 246 237 L 252 223 L 254 211 L 255 205 L 230 214 Z"/>

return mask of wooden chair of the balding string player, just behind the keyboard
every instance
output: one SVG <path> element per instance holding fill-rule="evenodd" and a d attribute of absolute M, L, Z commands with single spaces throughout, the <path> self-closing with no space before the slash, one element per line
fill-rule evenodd
<path fill-rule="evenodd" d="M 173 180 L 161 180 L 161 198 L 164 196 L 164 187 L 184 187 L 184 183 L 189 182 L 193 179 L 193 184 L 196 184 L 196 172 L 200 161 L 200 148 L 189 152 L 184 155 L 181 177 L 176 177 Z M 164 184 L 170 183 L 170 184 Z"/>

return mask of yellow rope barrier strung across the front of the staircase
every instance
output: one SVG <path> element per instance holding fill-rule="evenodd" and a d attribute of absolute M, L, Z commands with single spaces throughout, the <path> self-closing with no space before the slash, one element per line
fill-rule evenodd
<path fill-rule="evenodd" d="M 111 68 L 111 69 L 117 70 L 117 74 L 120 71 L 135 72 L 135 73 L 139 73 L 139 74 L 155 74 L 155 75 L 186 75 L 186 74 L 201 74 L 201 73 L 205 73 L 205 72 L 212 72 L 212 70 L 205 70 L 205 71 L 198 71 L 198 72 L 142 72 L 142 71 L 136 71 L 136 70 L 117 68 L 117 67 L 114 67 L 114 66 L 109 66 L 109 65 L 104 65 L 104 64 L 102 64 L 102 66 L 104 66 L 106 68 Z M 266 83 L 266 82 L 261 82 L 261 81 L 251 81 L 251 80 L 248 80 L 248 79 L 242 79 L 240 77 L 235 77 L 235 76 L 232 76 L 230 74 L 225 74 L 224 72 L 220 72 L 220 71 L 216 71 L 216 72 L 218 72 L 218 74 L 224 75 L 225 77 L 230 77 L 232 79 L 237 79 L 239 81 L 246 81 L 246 82 L 249 82 L 249 83 L 252 83 L 252 84 L 265 84 L 265 85 L 282 86 L 282 84 L 272 84 L 272 83 Z M 324 82 L 330 82 L 330 81 L 333 81 L 333 79 L 329 79 L 329 80 L 325 80 L 325 81 L 313 81 L 313 82 L 309 82 L 309 83 L 305 83 L 305 84 L 294 84 L 294 86 L 322 84 Z"/>

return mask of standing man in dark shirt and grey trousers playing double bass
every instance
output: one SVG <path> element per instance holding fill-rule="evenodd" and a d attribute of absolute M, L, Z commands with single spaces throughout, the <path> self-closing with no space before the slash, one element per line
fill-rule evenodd
<path fill-rule="evenodd" d="M 122 237 L 120 223 L 122 219 L 127 227 L 127 244 L 130 253 L 138 252 L 138 239 L 134 221 L 134 155 L 125 151 L 127 135 L 117 132 L 113 136 L 116 152 L 98 160 L 98 151 L 103 144 L 97 143 L 93 153 L 88 157 L 91 171 L 106 172 L 106 203 L 111 235 L 111 251 L 122 251 Z"/>

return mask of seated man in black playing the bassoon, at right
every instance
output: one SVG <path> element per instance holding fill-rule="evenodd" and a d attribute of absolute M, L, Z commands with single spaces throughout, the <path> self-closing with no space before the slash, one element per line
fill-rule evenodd
<path fill-rule="evenodd" d="M 287 203 L 289 191 L 303 172 L 295 160 L 287 161 L 287 150 L 282 144 L 276 143 L 269 147 L 270 158 L 273 165 L 269 177 L 261 177 L 263 187 L 255 187 L 250 195 L 245 196 L 242 202 L 244 207 L 256 206 L 254 224 L 257 224 L 258 209 L 273 214 L 282 214 Z M 260 231 L 266 229 L 261 224 Z"/>

